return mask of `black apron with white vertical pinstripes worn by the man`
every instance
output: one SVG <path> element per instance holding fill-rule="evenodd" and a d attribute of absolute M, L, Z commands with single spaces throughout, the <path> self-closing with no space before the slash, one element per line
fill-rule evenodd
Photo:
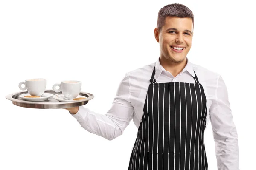
<path fill-rule="evenodd" d="M 207 101 L 198 77 L 195 84 L 157 83 L 154 74 L 128 170 L 208 170 Z"/>

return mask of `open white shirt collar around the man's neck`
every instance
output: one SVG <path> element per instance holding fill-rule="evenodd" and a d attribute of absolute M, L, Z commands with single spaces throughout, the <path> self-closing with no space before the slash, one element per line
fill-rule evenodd
<path fill-rule="evenodd" d="M 162 73 L 162 71 L 164 71 L 165 69 L 163 68 L 163 66 L 160 64 L 160 61 L 159 61 L 160 57 L 157 59 L 157 62 L 156 62 L 156 72 L 155 72 L 155 78 L 158 79 L 158 77 L 160 76 L 160 74 Z M 186 57 L 186 61 L 187 61 L 187 64 L 185 66 L 185 68 L 183 68 L 183 70 L 181 72 L 185 72 L 185 71 L 188 71 L 189 74 L 191 74 L 193 77 L 195 77 L 195 72 L 194 72 L 194 69 L 193 69 L 193 64 L 189 61 L 189 59 Z"/>

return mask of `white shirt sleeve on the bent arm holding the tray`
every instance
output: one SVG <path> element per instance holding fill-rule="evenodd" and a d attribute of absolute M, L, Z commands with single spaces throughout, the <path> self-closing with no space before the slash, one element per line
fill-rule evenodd
<path fill-rule="evenodd" d="M 124 132 L 134 115 L 129 89 L 129 77 L 125 74 L 119 84 L 113 104 L 106 114 L 95 113 L 80 106 L 79 111 L 72 116 L 77 119 L 81 127 L 90 133 L 108 140 L 115 139 Z"/>

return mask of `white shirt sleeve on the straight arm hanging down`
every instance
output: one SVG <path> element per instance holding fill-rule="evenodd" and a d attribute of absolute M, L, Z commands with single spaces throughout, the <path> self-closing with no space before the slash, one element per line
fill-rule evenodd
<path fill-rule="evenodd" d="M 227 87 L 220 75 L 217 79 L 215 99 L 210 107 L 210 121 L 218 170 L 239 170 L 237 131 L 230 109 Z"/>

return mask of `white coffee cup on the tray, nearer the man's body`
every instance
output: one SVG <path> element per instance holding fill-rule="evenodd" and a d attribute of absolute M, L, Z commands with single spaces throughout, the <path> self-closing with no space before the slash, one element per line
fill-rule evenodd
<path fill-rule="evenodd" d="M 56 89 L 56 87 L 59 89 Z M 52 86 L 53 91 L 56 93 L 62 92 L 62 94 L 68 99 L 75 99 L 81 91 L 82 83 L 79 81 L 61 81 L 61 83 L 55 83 Z"/>

